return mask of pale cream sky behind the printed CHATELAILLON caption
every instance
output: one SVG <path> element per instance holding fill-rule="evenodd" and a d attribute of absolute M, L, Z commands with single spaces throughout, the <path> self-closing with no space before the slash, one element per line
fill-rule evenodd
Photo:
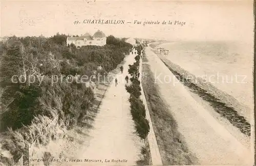
<path fill-rule="evenodd" d="M 2 1 L 3 36 L 81 35 L 101 30 L 116 37 L 163 40 L 253 40 L 253 1 Z M 124 24 L 74 24 L 122 19 Z M 160 21 L 159 25 L 134 24 Z M 183 21 L 185 25 L 161 24 Z M 132 23 L 127 23 L 132 22 Z"/>

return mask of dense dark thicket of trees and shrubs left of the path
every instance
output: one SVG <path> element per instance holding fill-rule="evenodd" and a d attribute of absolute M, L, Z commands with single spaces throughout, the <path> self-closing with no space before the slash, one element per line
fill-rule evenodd
<path fill-rule="evenodd" d="M 113 36 L 107 37 L 104 46 L 81 48 L 73 44 L 66 46 L 66 40 L 67 35 L 57 33 L 50 38 L 12 36 L 1 43 L 1 131 L 7 135 L 19 132 L 16 133 L 19 140 L 31 141 L 35 138 L 34 133 L 40 135 L 36 127 L 45 125 L 45 121 L 36 121 L 36 118 L 52 119 L 56 114 L 66 127 L 71 128 L 79 115 L 86 114 L 92 106 L 94 93 L 86 84 L 69 83 L 67 76 L 109 72 L 123 61 L 131 46 Z M 98 66 L 103 70 L 98 71 Z M 14 75 L 17 75 L 14 79 L 17 82 L 12 81 Z M 54 84 L 53 76 L 58 77 Z M 35 78 L 32 83 L 28 82 L 31 78 Z M 55 131 L 41 133 L 41 137 L 46 137 L 39 143 L 47 144 L 51 132 Z M 28 133 L 30 136 L 26 135 Z M 13 136 L 9 138 L 15 139 Z M 10 144 L 2 145 L 16 154 L 14 149 L 17 147 Z"/>

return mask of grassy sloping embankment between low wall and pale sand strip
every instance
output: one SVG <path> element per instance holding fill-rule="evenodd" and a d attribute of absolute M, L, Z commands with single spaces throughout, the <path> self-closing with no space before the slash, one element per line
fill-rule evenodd
<path fill-rule="evenodd" d="M 143 57 L 143 62 L 147 62 Z M 168 106 L 161 99 L 158 86 L 154 84 L 154 74 L 150 65 L 143 64 L 142 86 L 148 103 L 156 139 L 164 165 L 195 165 L 197 158 L 192 154 L 178 131 L 178 125 L 170 114 Z"/>

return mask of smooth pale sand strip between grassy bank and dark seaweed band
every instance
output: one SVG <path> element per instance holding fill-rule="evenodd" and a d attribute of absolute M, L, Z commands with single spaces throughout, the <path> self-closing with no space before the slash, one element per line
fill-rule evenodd
<path fill-rule="evenodd" d="M 196 102 L 149 47 L 146 48 L 146 56 L 160 87 L 161 96 L 169 105 L 179 131 L 188 148 L 199 158 L 200 164 L 252 165 L 250 150 Z"/>

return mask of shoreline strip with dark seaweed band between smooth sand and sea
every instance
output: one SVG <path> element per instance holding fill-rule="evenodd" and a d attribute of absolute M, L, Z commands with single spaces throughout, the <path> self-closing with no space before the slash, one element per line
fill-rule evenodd
<path fill-rule="evenodd" d="M 178 74 L 178 76 L 181 76 L 183 78 L 187 77 L 188 75 L 191 78 L 191 75 L 193 75 L 188 71 L 184 70 L 179 65 L 174 64 L 169 60 L 166 60 L 166 58 L 164 56 L 161 56 L 161 54 L 157 53 L 157 56 L 169 68 L 169 70 L 175 73 L 175 75 Z M 215 119 L 218 120 L 220 124 L 225 126 L 225 128 L 232 135 L 234 135 L 244 146 L 246 146 L 247 148 L 251 147 L 251 140 L 253 140 L 252 110 L 250 112 L 250 108 L 247 105 L 240 103 L 233 96 L 219 90 L 217 87 L 211 85 L 209 82 L 205 84 L 202 78 L 198 78 L 193 75 L 193 79 L 190 79 L 189 81 L 191 81 L 191 84 L 194 84 L 194 88 L 198 87 L 199 89 L 201 89 L 198 93 L 197 90 L 193 90 L 193 87 L 187 87 L 187 85 L 184 86 L 190 93 L 190 95 L 193 96 L 193 98 L 197 100 L 205 109 L 207 109 L 209 113 L 213 117 L 215 117 Z M 185 84 L 187 83 L 185 82 Z M 206 93 L 206 96 L 203 93 Z M 214 104 L 214 100 L 216 100 L 221 105 Z M 222 109 L 221 111 L 224 111 L 224 113 L 218 111 L 219 108 Z M 225 108 L 227 108 L 227 110 L 225 110 Z M 245 119 L 245 121 L 243 120 L 243 122 L 241 123 L 242 120 L 239 117 Z"/>

